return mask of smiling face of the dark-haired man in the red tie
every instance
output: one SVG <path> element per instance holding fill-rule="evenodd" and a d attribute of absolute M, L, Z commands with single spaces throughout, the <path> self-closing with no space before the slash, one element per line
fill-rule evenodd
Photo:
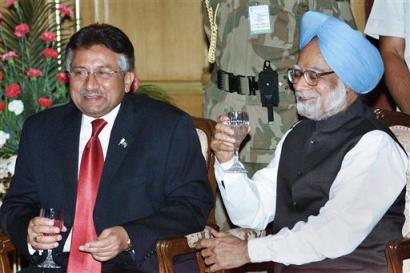
<path fill-rule="evenodd" d="M 88 116 L 99 118 L 108 114 L 129 92 L 134 73 L 121 72 L 118 54 L 102 45 L 75 50 L 71 63 L 70 94 L 74 104 Z M 80 79 L 75 72 L 88 72 Z M 95 73 L 98 72 L 98 73 Z M 113 72 L 101 77 L 102 72 Z"/>

